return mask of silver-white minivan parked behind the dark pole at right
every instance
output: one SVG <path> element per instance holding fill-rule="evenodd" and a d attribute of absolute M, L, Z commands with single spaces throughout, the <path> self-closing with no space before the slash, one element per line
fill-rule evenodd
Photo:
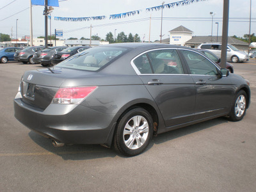
<path fill-rule="evenodd" d="M 221 58 L 221 44 L 220 43 L 204 43 L 199 45 L 199 49 L 207 49 L 219 58 Z M 227 45 L 227 61 L 232 61 L 233 63 L 249 61 L 249 56 L 246 52 L 239 51 L 233 45 Z"/>

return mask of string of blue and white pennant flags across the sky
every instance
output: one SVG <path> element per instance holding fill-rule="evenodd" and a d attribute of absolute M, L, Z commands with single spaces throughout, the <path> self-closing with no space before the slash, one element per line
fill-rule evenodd
<path fill-rule="evenodd" d="M 168 4 L 163 4 L 160 6 L 153 6 L 150 8 L 146 8 L 146 12 L 159 11 L 164 8 L 174 8 L 175 6 L 184 6 L 184 5 L 188 5 L 191 3 L 197 3 L 199 1 L 206 1 L 206 0 L 182 0 L 182 1 L 177 1 L 174 3 L 168 3 Z M 142 12 L 142 10 L 113 14 L 113 15 L 109 15 L 109 19 L 122 19 L 124 17 L 138 15 L 138 14 L 140 14 L 140 12 Z M 107 17 L 105 15 L 102 15 L 102 16 L 96 16 L 96 17 L 54 17 L 54 20 L 77 22 L 77 21 L 89 21 L 89 20 L 102 20 L 102 19 L 106 19 L 106 18 Z"/>

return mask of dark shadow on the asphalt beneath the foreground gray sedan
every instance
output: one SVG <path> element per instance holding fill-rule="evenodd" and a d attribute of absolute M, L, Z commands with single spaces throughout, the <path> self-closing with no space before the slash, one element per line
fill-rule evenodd
<path fill-rule="evenodd" d="M 190 125 L 188 127 L 183 127 L 180 129 L 175 129 L 173 131 L 164 132 L 154 137 L 150 142 L 148 148 L 145 152 L 150 151 L 155 144 L 161 144 L 166 141 L 171 141 L 194 132 L 202 131 L 204 129 L 209 129 L 210 127 L 216 126 L 218 124 L 227 123 L 227 118 L 220 117 L 213 120 L 208 120 L 195 125 Z M 51 140 L 47 139 L 36 132 L 30 131 L 29 137 L 31 140 L 35 141 L 37 145 L 45 148 L 48 152 L 56 154 L 62 157 L 64 160 L 86 160 L 86 159 L 99 159 L 104 157 L 122 157 L 129 158 L 118 154 L 113 148 L 102 147 L 101 145 L 64 145 L 64 147 L 53 147 Z M 141 154 L 143 155 L 143 154 Z"/>

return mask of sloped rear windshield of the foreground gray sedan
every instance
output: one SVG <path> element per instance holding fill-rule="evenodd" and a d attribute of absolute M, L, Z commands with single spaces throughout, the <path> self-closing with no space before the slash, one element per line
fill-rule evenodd
<path fill-rule="evenodd" d="M 93 47 L 62 61 L 56 67 L 95 71 L 108 65 L 125 52 L 127 49 L 124 47 Z"/>

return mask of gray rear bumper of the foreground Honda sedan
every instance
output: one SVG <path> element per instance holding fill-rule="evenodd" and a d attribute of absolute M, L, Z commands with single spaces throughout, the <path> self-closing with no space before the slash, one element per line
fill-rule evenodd
<path fill-rule="evenodd" d="M 81 105 L 50 104 L 36 111 L 16 97 L 14 111 L 15 118 L 32 131 L 66 144 L 106 144 L 115 125 L 113 115 Z"/>

